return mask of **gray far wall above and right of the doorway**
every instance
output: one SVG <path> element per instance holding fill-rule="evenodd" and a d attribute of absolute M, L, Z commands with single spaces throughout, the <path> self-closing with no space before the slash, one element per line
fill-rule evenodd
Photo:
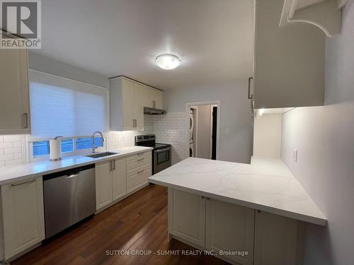
<path fill-rule="evenodd" d="M 218 110 L 221 116 L 219 159 L 250 163 L 253 131 L 246 78 L 164 93 L 164 106 L 168 112 L 185 112 L 185 103 L 209 100 L 221 100 Z"/>

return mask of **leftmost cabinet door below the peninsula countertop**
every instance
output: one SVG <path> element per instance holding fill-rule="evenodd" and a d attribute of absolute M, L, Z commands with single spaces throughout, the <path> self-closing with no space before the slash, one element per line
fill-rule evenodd
<path fill-rule="evenodd" d="M 169 233 L 205 247 L 205 198 L 169 189 Z"/>

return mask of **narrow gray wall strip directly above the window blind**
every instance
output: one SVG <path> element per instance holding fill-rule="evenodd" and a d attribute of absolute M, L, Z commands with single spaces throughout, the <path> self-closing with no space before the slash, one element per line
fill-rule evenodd
<path fill-rule="evenodd" d="M 64 78 L 69 78 L 84 83 L 90 83 L 103 88 L 109 87 L 108 78 L 105 76 L 80 69 L 70 64 L 64 64 L 61 61 L 44 57 L 35 52 L 28 52 L 28 64 L 30 69 L 51 73 L 56 76 L 62 76 Z"/>

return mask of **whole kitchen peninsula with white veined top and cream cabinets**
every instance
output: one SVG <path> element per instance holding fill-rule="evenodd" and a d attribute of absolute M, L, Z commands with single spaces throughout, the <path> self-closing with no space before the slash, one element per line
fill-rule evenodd
<path fill-rule="evenodd" d="M 249 165 L 187 158 L 149 182 L 169 188 L 170 240 L 232 264 L 301 264 L 304 222 L 327 222 L 278 159 L 253 157 Z"/>

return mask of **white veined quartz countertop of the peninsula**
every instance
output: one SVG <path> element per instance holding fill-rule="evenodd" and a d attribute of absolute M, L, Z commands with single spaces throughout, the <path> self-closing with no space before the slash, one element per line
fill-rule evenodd
<path fill-rule="evenodd" d="M 327 223 L 280 159 L 253 157 L 251 164 L 242 164 L 187 158 L 149 177 L 149 182 L 308 223 Z"/>

